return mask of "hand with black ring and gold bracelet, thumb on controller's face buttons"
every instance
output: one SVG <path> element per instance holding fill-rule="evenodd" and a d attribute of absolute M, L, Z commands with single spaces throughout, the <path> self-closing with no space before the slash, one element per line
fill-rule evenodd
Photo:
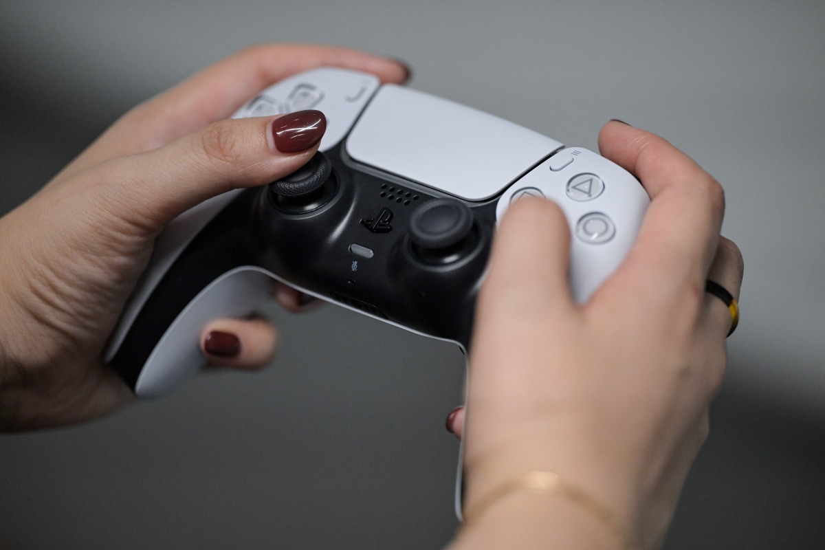
<path fill-rule="evenodd" d="M 555 472 L 612 510 L 641 548 L 658 548 L 726 363 L 731 317 L 705 280 L 738 298 L 742 256 L 719 236 L 721 187 L 690 158 L 619 122 L 602 129 L 599 145 L 651 196 L 638 241 L 592 299 L 577 304 L 560 209 L 536 199 L 508 209 L 477 304 L 464 508 L 527 472 Z M 448 427 L 462 435 L 464 411 Z M 525 491 L 497 501 L 459 546 L 495 547 L 507 535 L 484 524 L 504 516 L 560 527 L 553 536 L 563 537 L 573 523 L 554 524 L 548 512 L 569 510 L 559 510 L 559 498 L 536 499 Z"/>

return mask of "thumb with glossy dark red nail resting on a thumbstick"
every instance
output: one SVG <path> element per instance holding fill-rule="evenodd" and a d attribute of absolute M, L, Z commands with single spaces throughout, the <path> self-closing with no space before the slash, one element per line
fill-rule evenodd
<path fill-rule="evenodd" d="M 318 110 L 221 120 L 147 153 L 94 169 L 106 214 L 157 233 L 178 215 L 226 191 L 288 176 L 314 155 L 327 129 Z"/>

